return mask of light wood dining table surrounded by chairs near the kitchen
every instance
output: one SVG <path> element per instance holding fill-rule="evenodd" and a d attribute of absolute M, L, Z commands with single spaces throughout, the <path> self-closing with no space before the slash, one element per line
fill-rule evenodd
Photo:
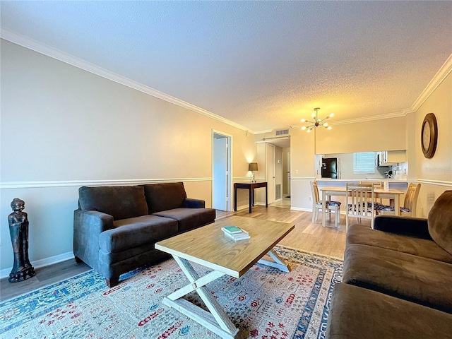
<path fill-rule="evenodd" d="M 347 196 L 345 187 L 319 187 L 322 192 L 322 226 L 325 227 L 326 201 L 331 200 L 331 196 Z M 394 206 L 395 215 L 400 215 L 400 195 L 405 194 L 398 189 L 374 189 L 375 198 L 389 199 L 390 205 Z M 347 208 L 347 206 L 345 206 Z"/>

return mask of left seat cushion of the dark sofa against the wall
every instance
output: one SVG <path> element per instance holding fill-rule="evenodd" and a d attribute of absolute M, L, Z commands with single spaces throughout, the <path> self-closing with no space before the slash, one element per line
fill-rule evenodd
<path fill-rule="evenodd" d="M 153 244 L 177 233 L 177 221 L 155 215 L 114 221 L 114 229 L 100 234 L 100 249 L 118 252 L 144 244 Z"/>

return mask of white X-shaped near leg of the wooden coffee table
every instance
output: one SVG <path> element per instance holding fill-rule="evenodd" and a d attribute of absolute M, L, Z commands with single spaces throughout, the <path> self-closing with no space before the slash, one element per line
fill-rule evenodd
<path fill-rule="evenodd" d="M 225 273 L 213 270 L 200 278 L 189 261 L 178 256 L 173 255 L 173 257 L 190 283 L 165 297 L 163 304 L 177 309 L 177 311 L 182 312 L 210 331 L 213 331 L 213 333 L 220 335 L 221 338 L 241 339 L 242 334 L 239 333 L 239 329 L 234 326 L 234 323 L 227 317 L 221 305 L 218 304 L 215 297 L 213 297 L 212 293 L 206 287 L 208 283 L 222 277 Z M 182 298 L 187 293 L 193 291 L 196 291 L 199 297 L 203 299 L 204 304 L 206 304 L 210 312 Z"/>

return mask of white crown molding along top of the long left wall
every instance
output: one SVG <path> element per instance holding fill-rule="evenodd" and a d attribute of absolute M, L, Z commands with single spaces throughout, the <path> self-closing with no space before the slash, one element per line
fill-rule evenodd
<path fill-rule="evenodd" d="M 250 133 L 256 134 L 254 131 L 251 131 L 245 126 L 242 126 L 234 121 L 220 117 L 217 114 L 213 114 L 212 112 L 209 112 L 206 109 L 202 109 L 201 107 L 191 105 L 189 102 L 185 102 L 183 100 L 177 99 L 177 97 L 172 97 L 171 95 L 162 93 L 159 90 L 155 90 L 154 88 L 150 88 L 129 78 L 120 76 L 119 74 L 113 73 L 112 71 L 109 71 L 107 69 L 102 69 L 102 67 L 100 66 L 90 64 L 88 61 L 79 59 L 77 57 L 73 57 L 71 54 L 67 54 L 65 52 L 60 51 L 59 49 L 55 49 L 54 47 L 50 47 L 46 44 L 42 44 L 41 42 L 37 42 L 36 40 L 32 40 L 29 37 L 25 37 L 24 35 L 20 35 L 16 32 L 11 32 L 11 30 L 1 28 L 0 37 L 4 40 L 8 40 L 9 42 L 13 42 L 13 44 L 18 44 L 19 46 L 31 49 L 32 51 L 38 52 L 40 54 L 44 54 L 47 57 L 51 57 L 53 59 L 57 59 L 66 64 L 69 64 L 71 66 L 77 67 L 78 69 L 83 69 L 84 71 L 88 71 L 97 76 L 102 76 L 102 78 L 106 78 L 116 83 L 120 83 L 121 85 L 133 88 L 134 90 L 139 90 L 140 92 L 152 95 L 153 97 L 165 100 L 179 107 L 189 109 L 192 112 L 196 112 L 210 119 L 220 121 L 223 124 L 227 124 L 237 129 L 241 129 L 243 131 L 248 131 Z"/>

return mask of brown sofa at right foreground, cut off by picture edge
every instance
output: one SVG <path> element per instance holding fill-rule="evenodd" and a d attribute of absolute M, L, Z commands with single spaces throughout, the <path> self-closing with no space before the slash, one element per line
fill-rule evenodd
<path fill-rule="evenodd" d="M 326 338 L 452 338 L 452 191 L 428 219 L 374 221 L 348 229 Z"/>

